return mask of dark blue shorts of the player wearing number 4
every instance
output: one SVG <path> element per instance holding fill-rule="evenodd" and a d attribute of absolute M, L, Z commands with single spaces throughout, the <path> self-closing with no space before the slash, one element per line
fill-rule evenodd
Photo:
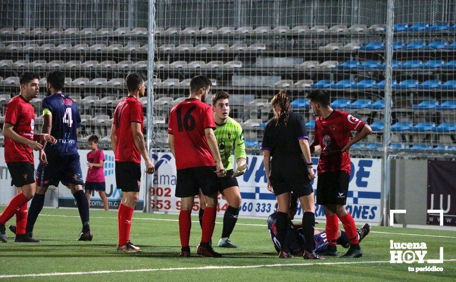
<path fill-rule="evenodd" d="M 82 185 L 81 164 L 79 154 L 71 155 L 47 155 L 48 165 L 44 166 L 39 163 L 36 169 L 36 185 L 41 187 L 58 186 L 61 182 L 63 185 L 69 184 Z"/>

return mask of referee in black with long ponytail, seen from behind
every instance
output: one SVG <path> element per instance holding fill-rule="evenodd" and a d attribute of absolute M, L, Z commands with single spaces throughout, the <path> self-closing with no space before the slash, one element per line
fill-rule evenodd
<path fill-rule="evenodd" d="M 267 123 L 261 150 L 264 153 L 267 189 L 277 197 L 277 237 L 282 246 L 279 257 L 293 257 L 286 244 L 291 192 L 299 198 L 304 215 L 302 230 L 306 241 L 304 259 L 321 259 L 314 251 L 315 200 L 310 181 L 315 178 L 304 119 L 291 112 L 288 95 L 280 90 L 271 100 L 274 117 Z M 272 159 L 271 159 L 272 158 Z"/>

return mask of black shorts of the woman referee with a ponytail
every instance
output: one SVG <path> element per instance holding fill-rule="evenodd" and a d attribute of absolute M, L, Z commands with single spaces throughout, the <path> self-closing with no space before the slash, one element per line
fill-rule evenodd
<path fill-rule="evenodd" d="M 307 166 L 300 156 L 273 157 L 270 180 L 276 196 L 293 192 L 299 198 L 314 192 L 308 177 Z"/>

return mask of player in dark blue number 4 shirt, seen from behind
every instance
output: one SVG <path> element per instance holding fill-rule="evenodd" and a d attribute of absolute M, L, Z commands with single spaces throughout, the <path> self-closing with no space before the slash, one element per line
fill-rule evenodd
<path fill-rule="evenodd" d="M 62 93 L 64 84 L 64 72 L 54 70 L 47 74 L 46 86 L 51 95 L 43 99 L 43 133 L 52 134 L 57 143 L 51 145 L 42 142 L 44 150 L 39 151 L 36 193 L 30 205 L 26 231 L 33 231 L 48 187 L 57 186 L 61 182 L 70 188 L 81 217 L 82 231 L 77 240 L 90 241 L 92 232 L 89 226 L 89 202 L 82 190 L 84 181 L 77 152 L 77 127 L 81 124 L 81 117 L 76 102 Z"/>

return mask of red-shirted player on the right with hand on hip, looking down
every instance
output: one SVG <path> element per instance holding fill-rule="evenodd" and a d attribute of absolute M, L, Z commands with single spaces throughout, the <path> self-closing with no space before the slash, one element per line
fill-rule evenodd
<path fill-rule="evenodd" d="M 350 249 L 342 258 L 361 257 L 363 251 L 359 246 L 355 221 L 345 209 L 348 182 L 350 179 L 350 147 L 372 132 L 362 120 L 329 105 L 329 95 L 324 90 L 314 90 L 307 97 L 314 115 L 318 116 L 315 123 L 314 143 L 310 152 L 321 150 L 318 162 L 317 204 L 324 206 L 326 214 L 326 236 L 328 248 L 322 255 L 337 256 L 337 231 L 339 221 L 350 238 Z M 350 132 L 357 131 L 350 139 Z"/>

